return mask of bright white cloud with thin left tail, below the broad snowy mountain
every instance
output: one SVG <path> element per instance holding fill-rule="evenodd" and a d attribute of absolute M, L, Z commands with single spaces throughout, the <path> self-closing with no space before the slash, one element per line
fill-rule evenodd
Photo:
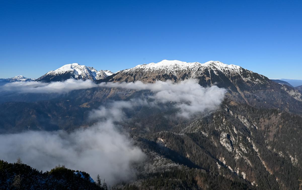
<path fill-rule="evenodd" d="M 202 87 L 197 79 L 188 79 L 178 83 L 156 81 L 155 83 L 101 83 L 100 87 L 114 87 L 132 90 L 150 90 L 154 95 L 148 98 L 154 103 L 174 103 L 179 109 L 178 115 L 190 117 L 195 113 L 217 109 L 224 99 L 226 90 L 217 86 Z"/>

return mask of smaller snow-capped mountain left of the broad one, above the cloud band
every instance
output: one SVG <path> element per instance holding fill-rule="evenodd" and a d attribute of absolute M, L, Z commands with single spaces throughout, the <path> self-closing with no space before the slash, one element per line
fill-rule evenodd
<path fill-rule="evenodd" d="M 113 73 L 109 70 L 97 71 L 93 67 L 79 65 L 78 63 L 67 64 L 54 71 L 47 72 L 45 75 L 37 79 L 37 81 L 64 81 L 69 78 L 82 80 L 98 80 L 104 79 Z"/>

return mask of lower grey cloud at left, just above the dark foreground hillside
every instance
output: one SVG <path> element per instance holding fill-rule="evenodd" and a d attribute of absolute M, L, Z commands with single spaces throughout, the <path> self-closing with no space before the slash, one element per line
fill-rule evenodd
<path fill-rule="evenodd" d="M 124 105 L 120 108 L 131 108 Z M 114 108 L 104 109 L 108 113 L 116 111 Z M 20 156 L 25 164 L 43 171 L 63 164 L 70 169 L 88 172 L 94 179 L 100 174 L 108 184 L 134 178 L 131 165 L 144 161 L 145 154 L 114 124 L 126 117 L 122 112 L 92 112 L 91 117 L 101 121 L 71 133 L 59 130 L 0 135 L 0 159 L 15 162 Z"/>

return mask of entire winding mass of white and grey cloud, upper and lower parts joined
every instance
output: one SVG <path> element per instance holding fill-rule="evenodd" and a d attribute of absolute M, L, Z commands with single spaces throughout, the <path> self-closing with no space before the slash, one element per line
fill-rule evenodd
<path fill-rule="evenodd" d="M 147 97 L 115 101 L 106 107 L 92 110 L 89 119 L 96 120 L 97 124 L 85 129 L 71 133 L 59 130 L 0 135 L 0 159 L 14 162 L 20 156 L 25 164 L 44 171 L 57 164 L 64 164 L 71 169 L 86 171 L 93 178 L 100 174 L 111 184 L 134 177 L 131 164 L 145 159 L 144 153 L 133 145 L 127 133 L 118 125 L 129 119 L 124 112 L 126 109 L 171 103 L 179 110 L 179 116 L 188 118 L 217 109 L 226 93 L 225 89 L 216 86 L 201 87 L 197 79 L 178 83 L 156 81 L 153 84 L 141 81 L 95 84 L 89 80 L 69 79 L 52 83 L 14 82 L 3 87 L 19 93 L 68 93 L 92 87 L 150 90 L 152 95 Z"/>

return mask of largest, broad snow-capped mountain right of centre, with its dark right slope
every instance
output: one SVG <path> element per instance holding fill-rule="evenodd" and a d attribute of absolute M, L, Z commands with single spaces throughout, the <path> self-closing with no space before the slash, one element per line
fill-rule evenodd
<path fill-rule="evenodd" d="M 122 70 L 115 75 L 105 78 L 105 81 L 132 82 L 143 81 L 153 83 L 157 80 L 172 80 L 175 82 L 184 79 L 197 78 L 204 87 L 216 85 L 228 90 L 226 94 L 233 100 L 242 103 L 257 105 L 264 101 L 267 105 L 281 107 L 284 102 L 302 103 L 300 90 L 290 86 L 283 86 L 271 81 L 258 73 L 249 71 L 240 66 L 228 65 L 219 61 L 206 63 L 187 63 L 178 60 L 162 60 L 158 63 L 137 65 Z M 297 103 L 297 101 L 299 103 Z M 280 105 L 279 105 L 280 104 Z M 296 109 L 288 107 L 286 109 Z"/>

